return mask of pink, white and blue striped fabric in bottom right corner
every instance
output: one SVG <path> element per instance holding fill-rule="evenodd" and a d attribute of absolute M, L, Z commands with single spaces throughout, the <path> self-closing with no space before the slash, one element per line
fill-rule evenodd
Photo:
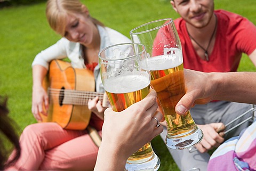
<path fill-rule="evenodd" d="M 212 154 L 207 171 L 256 170 L 256 121 L 239 136 L 219 146 Z"/>

